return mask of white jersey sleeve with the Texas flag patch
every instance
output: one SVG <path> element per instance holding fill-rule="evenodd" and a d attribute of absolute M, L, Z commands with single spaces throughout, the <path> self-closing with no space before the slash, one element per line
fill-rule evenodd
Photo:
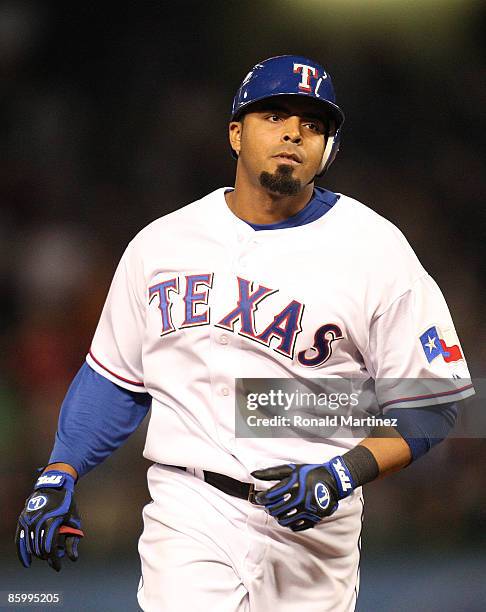
<path fill-rule="evenodd" d="M 384 412 L 474 394 L 446 301 L 427 273 L 374 318 L 363 357 Z"/>

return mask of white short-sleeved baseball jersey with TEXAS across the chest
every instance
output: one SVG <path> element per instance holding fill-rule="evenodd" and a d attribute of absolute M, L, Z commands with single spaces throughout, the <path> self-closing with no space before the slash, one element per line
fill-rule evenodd
<path fill-rule="evenodd" d="M 469 378 L 445 300 L 393 224 L 340 195 L 311 223 L 255 231 L 228 208 L 230 189 L 130 242 L 87 356 L 152 396 L 146 458 L 251 482 L 255 469 L 321 463 L 359 442 L 237 438 L 236 378 Z M 380 393 L 404 407 L 473 390 Z"/>

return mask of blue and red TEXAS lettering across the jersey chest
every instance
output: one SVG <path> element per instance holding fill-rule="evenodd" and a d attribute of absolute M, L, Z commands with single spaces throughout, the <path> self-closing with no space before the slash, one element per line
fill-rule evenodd
<path fill-rule="evenodd" d="M 170 278 L 149 288 L 149 303 L 158 297 L 158 308 L 162 320 L 161 337 L 178 329 L 210 324 L 210 307 L 196 313 L 196 306 L 198 304 L 208 305 L 213 281 L 212 273 L 191 274 L 184 277 L 184 320 L 178 326 L 173 321 L 171 298 L 174 293 L 181 293 L 179 278 Z M 269 289 L 263 285 L 255 287 L 255 283 L 241 277 L 237 277 L 237 281 L 238 300 L 235 307 L 214 325 L 235 333 L 235 325 L 238 324 L 237 333 L 240 336 L 267 347 L 270 347 L 273 339 L 277 339 L 279 344 L 273 350 L 292 360 L 297 336 L 302 331 L 301 321 L 305 305 L 297 300 L 290 301 L 285 308 L 273 316 L 273 320 L 269 321 L 262 331 L 257 331 L 255 313 L 258 304 L 277 293 L 278 289 Z M 297 354 L 298 362 L 306 367 L 322 365 L 332 354 L 332 343 L 341 338 L 343 338 L 343 332 L 335 323 L 319 326 L 314 333 L 312 346 Z"/>

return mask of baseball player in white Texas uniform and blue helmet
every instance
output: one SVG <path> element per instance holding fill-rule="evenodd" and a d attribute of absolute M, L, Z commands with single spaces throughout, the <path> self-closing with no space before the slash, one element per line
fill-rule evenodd
<path fill-rule="evenodd" d="M 76 481 L 151 408 L 143 610 L 355 608 L 362 486 L 445 438 L 474 390 L 444 298 L 400 231 L 315 186 L 343 121 L 311 59 L 247 74 L 229 123 L 234 187 L 157 219 L 121 258 L 19 518 L 25 567 L 77 559 Z M 381 410 L 399 418 L 362 438 L 238 437 L 240 378 L 382 381 Z M 450 385 L 403 392 L 419 379 Z"/>

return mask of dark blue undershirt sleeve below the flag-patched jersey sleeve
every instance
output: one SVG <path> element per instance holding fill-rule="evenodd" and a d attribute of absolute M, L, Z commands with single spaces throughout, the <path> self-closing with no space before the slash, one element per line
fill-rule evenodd
<path fill-rule="evenodd" d="M 386 416 L 397 419 L 395 429 L 409 445 L 415 461 L 448 436 L 457 419 L 457 402 L 423 408 L 392 408 Z"/>

